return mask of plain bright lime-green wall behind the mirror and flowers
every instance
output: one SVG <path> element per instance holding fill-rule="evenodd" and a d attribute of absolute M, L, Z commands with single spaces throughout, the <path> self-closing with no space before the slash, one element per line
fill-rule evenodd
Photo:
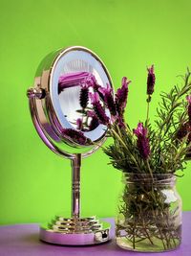
<path fill-rule="evenodd" d="M 0 0 L 0 223 L 46 221 L 70 214 L 70 161 L 49 151 L 36 134 L 26 90 L 40 60 L 54 49 L 83 45 L 106 63 L 115 86 L 130 85 L 131 127 L 145 117 L 146 66 L 156 67 L 156 92 L 191 68 L 189 0 Z M 121 174 L 102 151 L 83 161 L 84 215 L 115 215 Z M 191 210 L 191 165 L 178 182 L 183 209 Z"/>

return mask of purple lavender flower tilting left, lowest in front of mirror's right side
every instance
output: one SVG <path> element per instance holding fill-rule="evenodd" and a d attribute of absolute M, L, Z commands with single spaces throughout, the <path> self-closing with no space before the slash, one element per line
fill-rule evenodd
<path fill-rule="evenodd" d="M 89 93 L 89 96 L 92 101 L 92 105 L 94 107 L 94 110 L 99 122 L 103 125 L 108 125 L 109 117 L 106 115 L 103 106 L 100 104 L 98 93 L 97 92 L 95 92 L 94 94 Z"/>

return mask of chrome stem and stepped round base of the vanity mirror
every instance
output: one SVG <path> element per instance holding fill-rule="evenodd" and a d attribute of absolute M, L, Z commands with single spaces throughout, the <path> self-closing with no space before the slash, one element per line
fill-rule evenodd
<path fill-rule="evenodd" d="M 80 217 L 80 166 L 81 154 L 74 155 L 72 163 L 72 213 L 71 218 L 55 216 L 48 225 L 40 227 L 40 240 L 50 244 L 85 245 L 107 242 L 111 225 L 95 216 Z"/>

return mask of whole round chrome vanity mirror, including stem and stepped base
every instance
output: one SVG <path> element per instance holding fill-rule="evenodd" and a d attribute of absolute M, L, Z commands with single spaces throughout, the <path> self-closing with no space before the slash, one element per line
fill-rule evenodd
<path fill-rule="evenodd" d="M 40 228 L 40 239 L 52 244 L 100 244 L 110 239 L 108 223 L 80 216 L 81 158 L 96 151 L 107 132 L 99 122 L 91 94 L 112 87 L 103 62 L 87 48 L 74 46 L 42 60 L 33 88 L 27 92 L 33 125 L 55 153 L 72 160 L 71 217 L 56 216 Z M 104 106 L 105 107 L 105 106 Z M 96 109 L 98 111 L 98 109 Z M 106 115 L 109 111 L 105 108 Z"/>

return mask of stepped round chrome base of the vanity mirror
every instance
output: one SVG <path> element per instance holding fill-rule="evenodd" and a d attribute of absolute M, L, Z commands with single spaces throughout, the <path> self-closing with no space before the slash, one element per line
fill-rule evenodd
<path fill-rule="evenodd" d="M 56 216 L 52 223 L 40 227 L 40 240 L 51 244 L 101 244 L 111 239 L 111 224 L 96 217 L 63 218 Z"/>

